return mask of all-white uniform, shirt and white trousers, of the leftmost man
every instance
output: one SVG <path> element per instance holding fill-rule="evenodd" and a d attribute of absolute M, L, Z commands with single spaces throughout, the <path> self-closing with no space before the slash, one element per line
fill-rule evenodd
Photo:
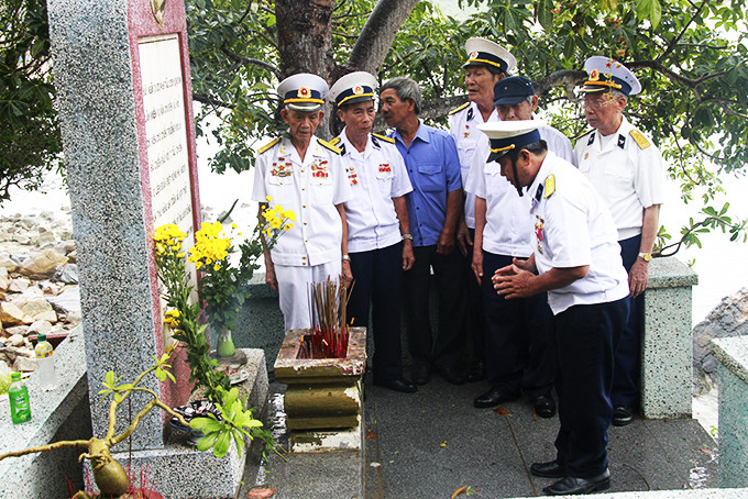
<path fill-rule="evenodd" d="M 308 285 L 341 274 L 342 223 L 336 206 L 351 198 L 340 155 L 312 137 L 304 160 L 288 138 L 261 152 L 252 200 L 280 204 L 294 226 L 271 250 L 286 330 L 311 325 Z"/>

